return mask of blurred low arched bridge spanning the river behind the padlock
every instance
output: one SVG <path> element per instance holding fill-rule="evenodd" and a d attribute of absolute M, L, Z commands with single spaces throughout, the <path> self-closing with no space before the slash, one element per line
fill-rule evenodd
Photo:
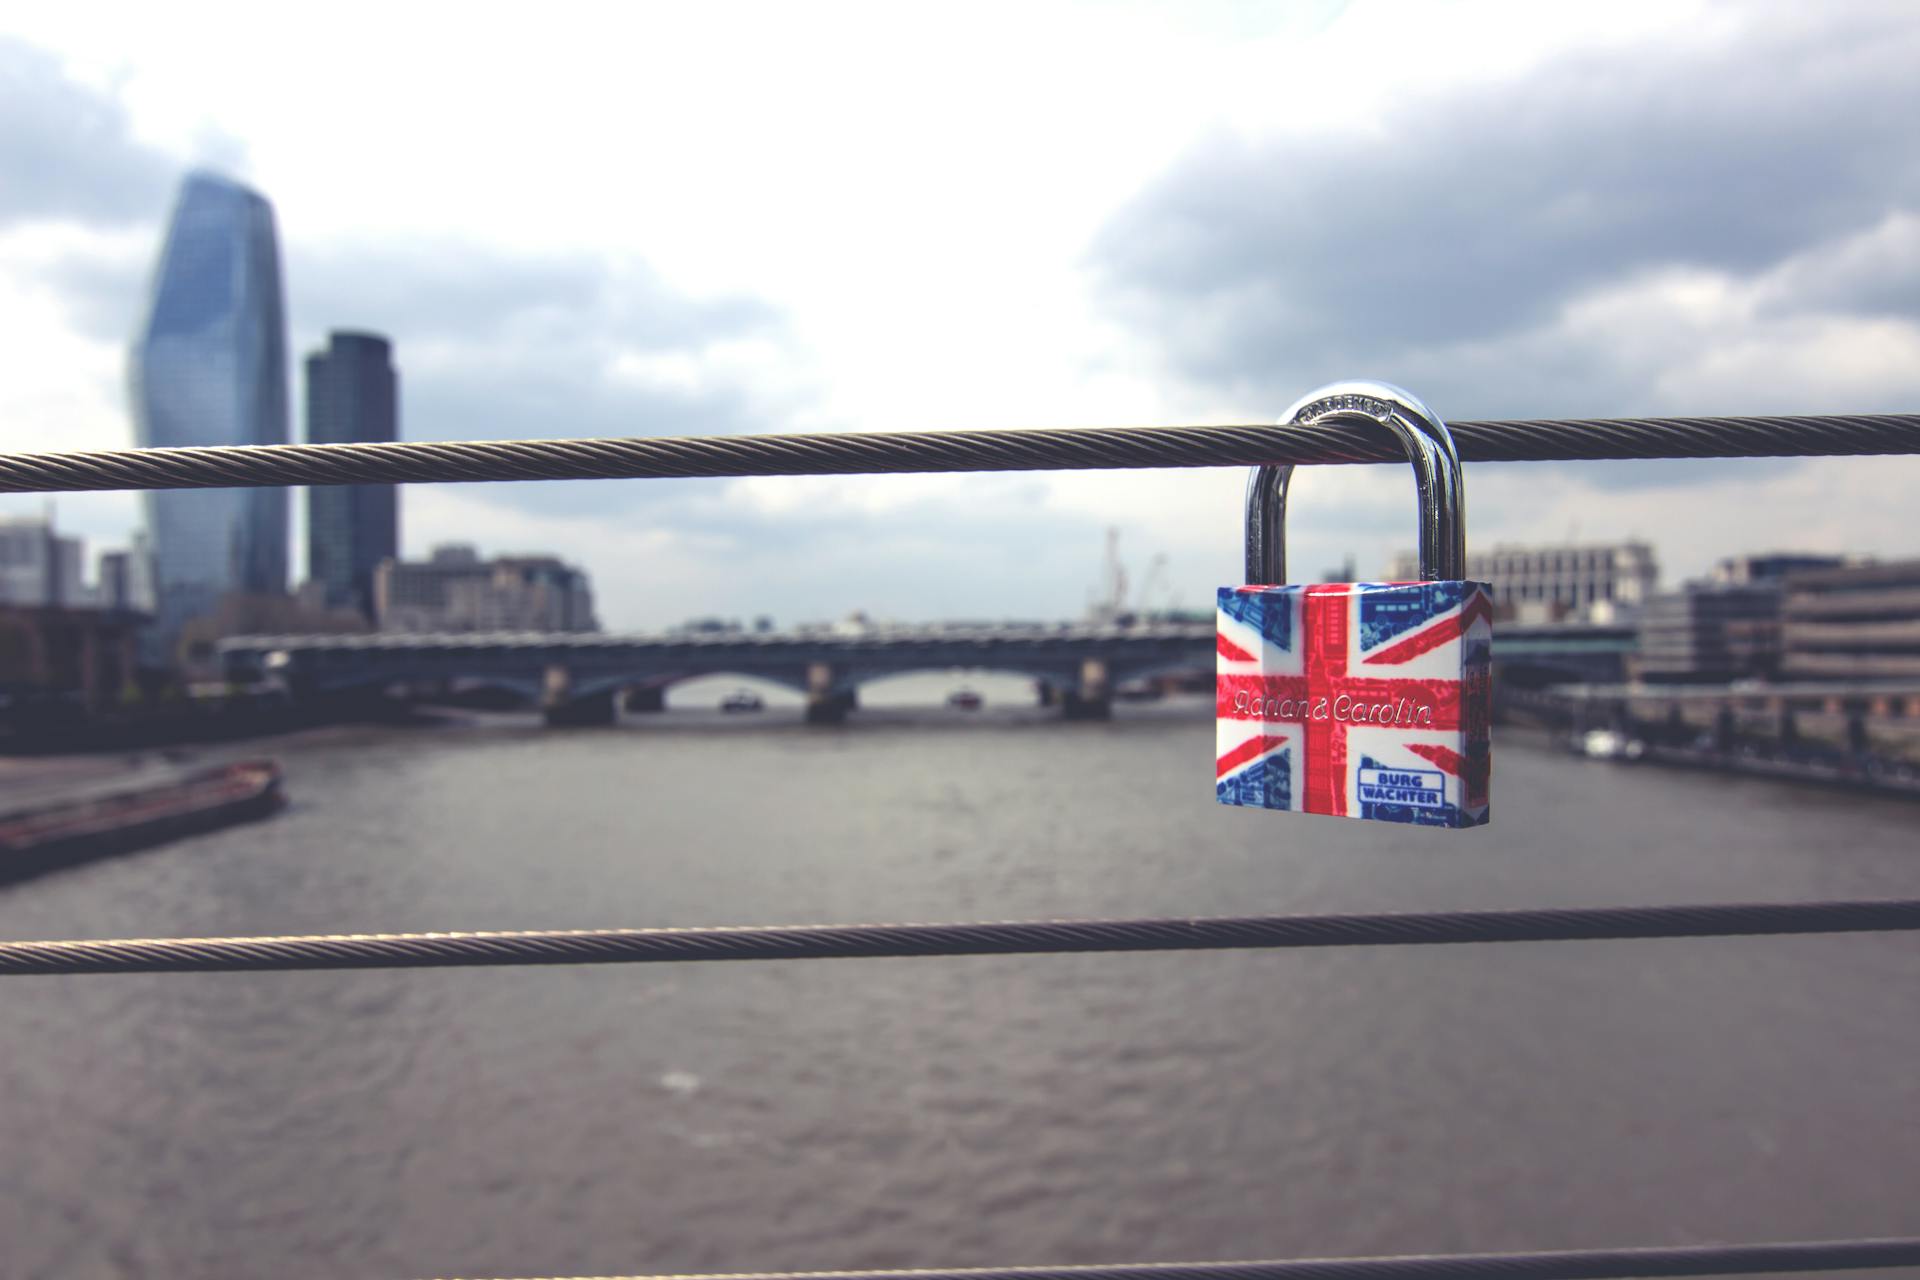
<path fill-rule="evenodd" d="M 751 676 L 806 699 L 806 718 L 835 723 L 858 687 L 902 672 L 985 668 L 1031 676 L 1069 720 L 1112 714 L 1114 687 L 1213 668 L 1213 624 L 1000 624 L 766 633 L 463 633 L 240 635 L 221 641 L 232 679 L 273 679 L 296 700 L 403 685 L 484 681 L 538 702 L 547 723 L 612 723 L 660 710 L 666 689 L 697 676 Z"/>

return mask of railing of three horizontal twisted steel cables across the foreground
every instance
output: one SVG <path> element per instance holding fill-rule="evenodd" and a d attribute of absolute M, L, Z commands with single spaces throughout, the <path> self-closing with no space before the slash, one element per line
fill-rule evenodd
<path fill-rule="evenodd" d="M 1920 415 L 1452 422 L 1465 461 L 1920 453 Z M 1404 462 L 1379 426 L 684 436 L 451 443 L 223 445 L 0 457 L 0 493 L 689 476 L 822 476 Z M 1920 929 L 1920 900 L 526 933 L 0 942 L 0 977 L 906 956 L 1192 952 L 1834 935 Z M 1724 1276 L 1920 1267 L 1920 1236 L 1248 1263 L 858 1270 L 703 1280 L 1450 1280 Z M 611 1280 L 611 1278 L 609 1278 Z"/>

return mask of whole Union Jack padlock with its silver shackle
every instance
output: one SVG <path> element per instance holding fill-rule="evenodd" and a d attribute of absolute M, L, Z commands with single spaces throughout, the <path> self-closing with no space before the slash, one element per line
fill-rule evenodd
<path fill-rule="evenodd" d="M 1419 484 L 1421 581 L 1286 581 L 1286 482 L 1246 491 L 1246 581 L 1219 589 L 1215 796 L 1428 827 L 1488 819 L 1494 597 L 1465 581 L 1459 453 L 1384 382 L 1336 382 L 1286 422 L 1377 422 Z"/>

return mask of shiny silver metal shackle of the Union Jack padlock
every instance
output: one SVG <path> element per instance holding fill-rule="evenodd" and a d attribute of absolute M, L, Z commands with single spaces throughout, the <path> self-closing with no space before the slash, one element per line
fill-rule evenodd
<path fill-rule="evenodd" d="M 1467 499 L 1461 491 L 1459 451 L 1427 405 L 1386 382 L 1334 382 L 1306 395 L 1281 418 L 1290 426 L 1377 422 L 1400 438 L 1413 462 L 1421 503 L 1421 581 L 1467 576 Z M 1294 468 L 1273 462 L 1254 470 L 1246 486 L 1246 583 L 1286 581 L 1286 482 Z"/>

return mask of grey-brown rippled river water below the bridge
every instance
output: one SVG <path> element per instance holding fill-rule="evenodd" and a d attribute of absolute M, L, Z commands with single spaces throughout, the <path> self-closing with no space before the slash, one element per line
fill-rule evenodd
<path fill-rule="evenodd" d="M 1895 800 L 1511 741 L 1486 831 L 1281 818 L 1213 804 L 1204 702 L 1002 693 L 309 733 L 288 812 L 0 890 L 0 935 L 1920 894 Z M 19 1280 L 1920 1232 L 1910 935 L 8 979 L 0 1046 Z"/>

